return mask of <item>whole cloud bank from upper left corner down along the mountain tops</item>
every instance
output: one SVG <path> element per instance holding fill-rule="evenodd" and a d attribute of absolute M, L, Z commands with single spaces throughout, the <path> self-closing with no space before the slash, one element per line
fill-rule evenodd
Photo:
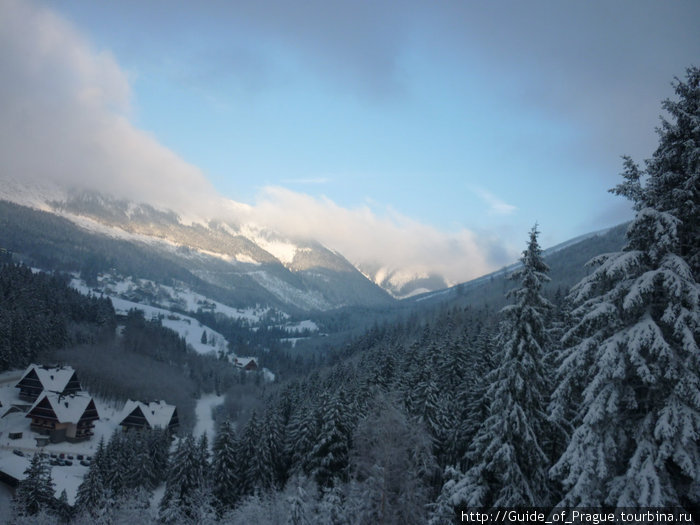
<path fill-rule="evenodd" d="M 347 209 L 280 187 L 265 188 L 253 205 L 226 202 L 198 168 L 131 124 L 129 78 L 109 53 L 96 52 L 48 9 L 1 1 L 0 159 L 7 176 L 252 221 L 318 240 L 354 263 L 440 272 L 451 282 L 494 267 L 490 240 L 390 210 Z"/>

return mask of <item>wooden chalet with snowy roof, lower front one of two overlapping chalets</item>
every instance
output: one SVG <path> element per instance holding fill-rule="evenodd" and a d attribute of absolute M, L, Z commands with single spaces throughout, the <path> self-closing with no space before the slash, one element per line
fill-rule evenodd
<path fill-rule="evenodd" d="M 44 392 L 25 417 L 32 420 L 30 428 L 34 432 L 48 436 L 52 443 L 90 439 L 95 421 L 100 419 L 87 392 Z"/>

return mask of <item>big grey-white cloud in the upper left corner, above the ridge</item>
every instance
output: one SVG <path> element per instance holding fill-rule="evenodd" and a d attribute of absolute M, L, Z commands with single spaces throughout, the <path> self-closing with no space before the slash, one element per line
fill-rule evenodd
<path fill-rule="evenodd" d="M 5 175 L 185 209 L 215 197 L 204 174 L 128 120 L 127 75 L 64 19 L 3 0 L 0 158 Z"/>

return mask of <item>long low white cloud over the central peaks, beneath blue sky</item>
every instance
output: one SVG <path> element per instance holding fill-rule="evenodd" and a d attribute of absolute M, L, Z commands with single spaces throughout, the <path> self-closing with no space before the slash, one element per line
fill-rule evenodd
<path fill-rule="evenodd" d="M 391 209 L 348 209 L 278 186 L 263 189 L 252 206 L 237 206 L 240 222 L 270 228 L 292 239 L 315 239 L 358 265 L 377 264 L 417 275 L 437 272 L 451 283 L 488 273 L 515 253 L 493 238 L 462 229 L 444 232 Z M 493 255 L 498 255 L 498 260 Z"/>

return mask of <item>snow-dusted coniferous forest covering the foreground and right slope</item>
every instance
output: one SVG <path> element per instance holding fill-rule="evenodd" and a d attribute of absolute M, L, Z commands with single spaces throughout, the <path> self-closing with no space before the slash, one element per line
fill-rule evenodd
<path fill-rule="evenodd" d="M 374 327 L 323 366 L 258 390 L 245 418 L 224 412 L 212 444 L 188 432 L 172 443 L 117 433 L 73 507 L 51 497 L 35 456 L 15 523 L 442 525 L 466 508 L 697 509 L 700 68 L 673 86 L 652 158 L 625 157 L 611 190 L 635 210 L 626 245 L 590 261 L 566 297 L 543 291 L 534 225 L 501 311 L 452 308 Z M 0 368 L 114 331 L 108 301 L 57 279 L 0 269 Z M 17 287 L 30 303 L 14 299 Z M 157 328 L 127 324 L 130 351 L 152 352 L 139 338 Z M 168 355 L 193 390 L 238 381 L 184 349 Z"/>

